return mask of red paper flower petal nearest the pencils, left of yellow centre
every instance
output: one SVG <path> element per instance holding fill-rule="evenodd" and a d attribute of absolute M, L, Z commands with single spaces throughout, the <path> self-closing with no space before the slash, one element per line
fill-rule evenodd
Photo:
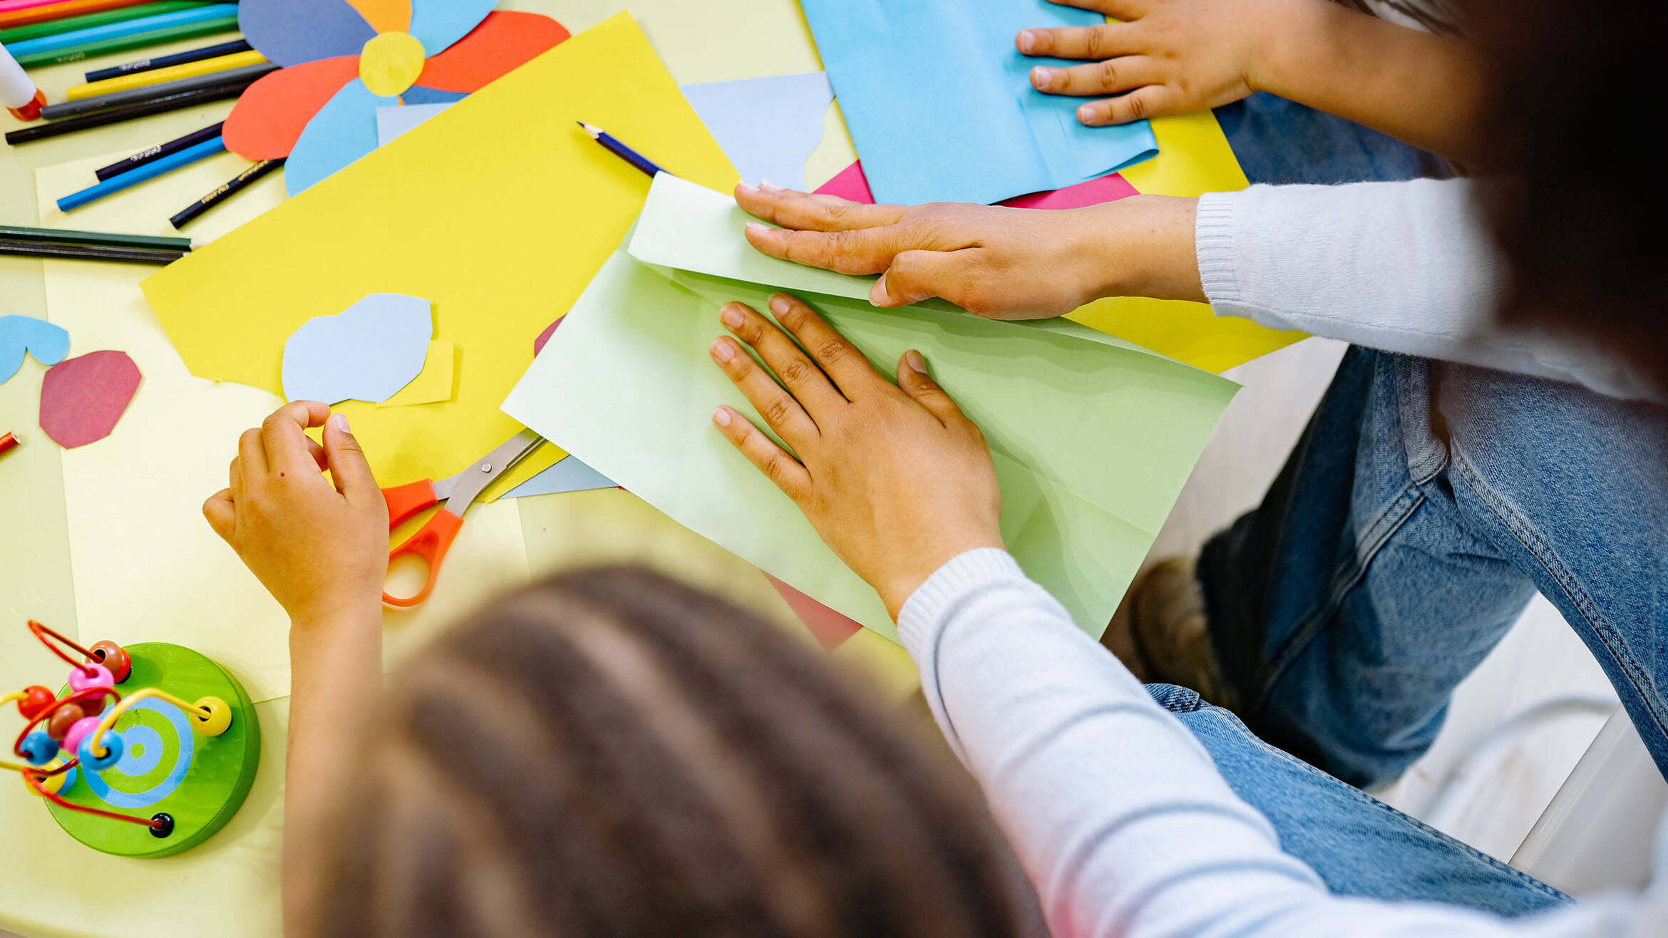
<path fill-rule="evenodd" d="M 225 149 L 249 160 L 290 155 L 307 122 L 359 77 L 359 57 L 339 55 L 279 68 L 244 90 L 225 119 Z"/>

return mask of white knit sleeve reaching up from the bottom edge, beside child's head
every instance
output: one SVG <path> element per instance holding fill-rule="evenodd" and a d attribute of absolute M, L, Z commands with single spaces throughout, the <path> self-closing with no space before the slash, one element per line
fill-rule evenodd
<path fill-rule="evenodd" d="M 1193 734 L 1004 551 L 944 564 L 897 629 L 1056 938 L 1573 936 L 1640 925 L 1631 900 L 1506 921 L 1329 895 Z"/>

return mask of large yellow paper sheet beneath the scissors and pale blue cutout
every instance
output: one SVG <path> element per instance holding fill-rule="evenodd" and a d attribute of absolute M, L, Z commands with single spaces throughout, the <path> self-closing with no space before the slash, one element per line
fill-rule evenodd
<path fill-rule="evenodd" d="M 684 179 L 736 184 L 620 13 L 152 275 L 145 295 L 193 374 L 272 392 L 284 339 L 307 319 L 367 292 L 429 297 L 435 337 L 465 352 L 452 401 L 340 409 L 384 482 L 459 472 L 520 429 L 499 402 L 532 361 L 534 337 L 572 305 L 649 190 L 575 120 Z M 542 447 L 495 491 L 559 456 Z"/>

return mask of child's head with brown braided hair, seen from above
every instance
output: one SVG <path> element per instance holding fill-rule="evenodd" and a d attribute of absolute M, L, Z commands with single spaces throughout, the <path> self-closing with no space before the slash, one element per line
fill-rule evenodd
<path fill-rule="evenodd" d="M 637 569 L 514 593 L 390 679 L 324 935 L 1012 935 L 964 774 L 781 629 Z"/>

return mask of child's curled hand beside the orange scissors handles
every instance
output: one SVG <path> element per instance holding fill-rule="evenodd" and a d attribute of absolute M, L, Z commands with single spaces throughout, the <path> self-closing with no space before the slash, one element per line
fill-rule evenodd
<path fill-rule="evenodd" d="M 322 447 L 302 432 L 320 424 Z M 380 614 L 389 507 L 347 417 L 330 417 L 330 407 L 285 404 L 260 429 L 245 431 L 230 487 L 203 502 L 203 516 L 292 623 L 367 608 Z"/>

